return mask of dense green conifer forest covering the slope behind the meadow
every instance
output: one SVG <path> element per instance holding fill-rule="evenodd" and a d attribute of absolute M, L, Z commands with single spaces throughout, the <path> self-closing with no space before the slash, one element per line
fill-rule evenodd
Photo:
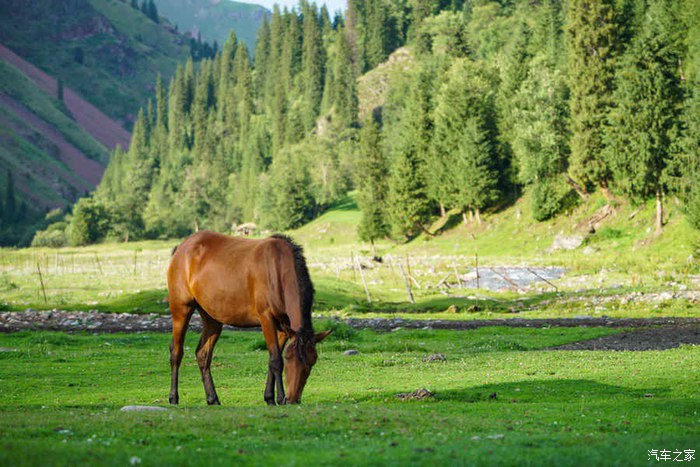
<path fill-rule="evenodd" d="M 529 191 L 536 220 L 595 190 L 677 197 L 700 224 L 700 12 L 691 0 L 300 2 L 188 61 L 141 110 L 71 243 L 282 230 L 358 190 L 363 239 L 409 239 L 447 210 L 481 222 Z M 357 78 L 408 45 L 383 105 Z"/>

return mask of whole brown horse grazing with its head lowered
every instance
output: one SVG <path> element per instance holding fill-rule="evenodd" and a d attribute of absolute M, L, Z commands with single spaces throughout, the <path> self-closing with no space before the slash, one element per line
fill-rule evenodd
<path fill-rule="evenodd" d="M 275 404 L 301 402 L 301 393 L 318 358 L 316 343 L 330 331 L 314 335 L 311 306 L 314 288 L 300 246 L 283 235 L 263 240 L 199 232 L 173 251 L 168 268 L 168 298 L 173 317 L 170 346 L 170 403 L 177 404 L 177 377 L 185 333 L 196 309 L 202 316 L 197 363 L 207 403 L 219 404 L 209 367 L 224 324 L 261 326 L 270 362 L 264 398 Z M 288 396 L 282 370 L 285 366 Z"/>

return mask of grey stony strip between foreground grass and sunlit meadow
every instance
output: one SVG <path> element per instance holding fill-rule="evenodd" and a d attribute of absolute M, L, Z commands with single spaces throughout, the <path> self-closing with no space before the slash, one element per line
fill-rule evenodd
<path fill-rule="evenodd" d="M 351 318 L 343 322 L 354 328 L 374 329 L 376 331 L 393 331 L 400 328 L 469 330 L 487 326 L 633 328 L 629 331 L 590 341 L 556 347 L 556 349 L 561 350 L 660 350 L 678 347 L 681 344 L 700 345 L 700 318 L 509 318 L 469 321 Z M 201 319 L 195 313 L 190 322 L 190 329 L 199 331 L 201 328 Z M 230 326 L 226 326 L 226 328 L 242 330 Z M 171 322 L 170 316 L 154 313 L 97 313 L 59 310 L 0 312 L 0 332 L 24 330 L 105 333 L 170 332 Z"/>

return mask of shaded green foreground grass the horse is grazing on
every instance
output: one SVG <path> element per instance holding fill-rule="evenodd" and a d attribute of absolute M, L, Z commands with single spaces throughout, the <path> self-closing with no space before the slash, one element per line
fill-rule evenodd
<path fill-rule="evenodd" d="M 697 347 L 547 350 L 613 332 L 340 333 L 320 345 L 304 403 L 276 408 L 259 333 L 224 332 L 222 407 L 205 405 L 190 333 L 181 405 L 130 413 L 167 405 L 169 336 L 1 335 L 16 351 L 0 353 L 0 463 L 641 465 L 649 449 L 697 450 Z M 435 352 L 447 361 L 423 361 Z M 421 387 L 435 397 L 395 397 Z"/>

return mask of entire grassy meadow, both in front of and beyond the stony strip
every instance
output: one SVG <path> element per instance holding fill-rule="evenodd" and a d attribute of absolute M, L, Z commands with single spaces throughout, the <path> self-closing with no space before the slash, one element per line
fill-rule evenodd
<path fill-rule="evenodd" d="M 482 226 L 452 219 L 439 236 L 380 242 L 381 263 L 356 237 L 352 197 L 290 232 L 306 249 L 317 289 L 316 327 L 336 331 L 319 346 L 300 406 L 265 406 L 268 356 L 257 331 L 221 337 L 212 366 L 221 407 L 206 406 L 198 336 L 189 333 L 177 408 L 167 406 L 167 334 L 0 335 L 0 464 L 639 465 L 650 449 L 697 449 L 696 346 L 564 351 L 552 347 L 623 330 L 378 333 L 324 319 L 699 315 L 686 298 L 623 302 L 633 292 L 698 289 L 697 233 L 677 211 L 654 237 L 644 228 L 651 206 L 631 219 L 634 209 L 618 206 L 577 250 L 550 252 L 555 235 L 576 231 L 571 224 L 599 208 L 537 224 L 527 206 L 524 200 L 487 215 Z M 2 249 L 0 306 L 167 313 L 165 270 L 177 243 Z M 567 273 L 522 290 L 437 286 L 446 275 L 454 284 L 454 271 L 468 272 L 475 254 L 482 268 L 559 266 Z M 408 301 L 402 267 L 416 303 Z M 343 355 L 349 349 L 359 354 Z M 426 360 L 436 353 L 445 361 Z M 420 388 L 434 396 L 396 397 Z M 168 410 L 120 411 L 135 404 Z"/>

